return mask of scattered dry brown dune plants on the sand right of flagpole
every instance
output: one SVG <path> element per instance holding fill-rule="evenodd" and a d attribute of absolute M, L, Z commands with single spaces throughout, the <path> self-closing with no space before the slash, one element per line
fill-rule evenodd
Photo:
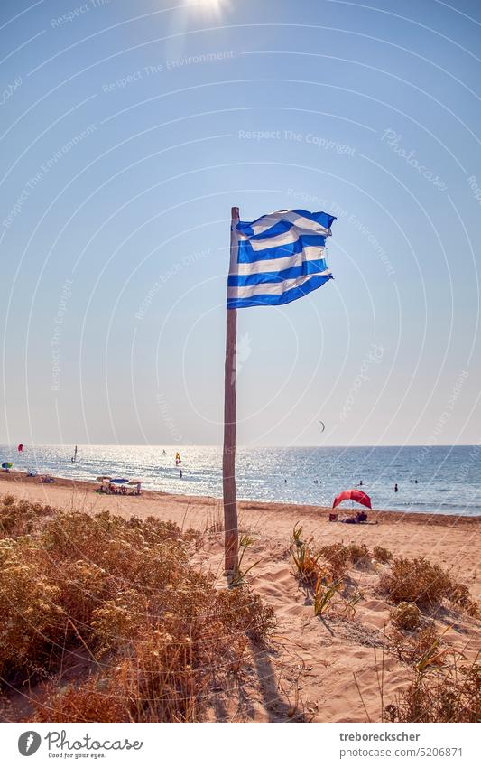
<path fill-rule="evenodd" d="M 478 604 L 466 585 L 425 557 L 393 558 L 391 551 L 379 546 L 371 554 L 359 543 L 317 547 L 313 538 L 303 539 L 299 523 L 291 534 L 290 551 L 293 575 L 311 594 L 316 616 L 324 620 L 342 616 L 354 621 L 356 604 L 365 594 L 357 589 L 353 595 L 347 585 L 359 570 L 371 570 L 377 576 L 375 591 L 393 603 L 391 625 L 384 627 L 378 678 L 384 680 L 386 656 L 391 654 L 409 669 L 411 680 L 387 705 L 384 681 L 380 682 L 383 721 L 479 721 L 481 664 L 477 656 L 469 663 L 463 652 L 445 647 L 444 635 L 450 627 L 439 632 L 436 624 L 446 605 L 451 611 L 479 617 Z M 355 680 L 357 685 L 356 675 Z"/>

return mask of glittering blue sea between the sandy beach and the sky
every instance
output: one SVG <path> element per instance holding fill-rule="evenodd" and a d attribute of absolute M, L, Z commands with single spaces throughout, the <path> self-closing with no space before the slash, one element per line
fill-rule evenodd
<path fill-rule="evenodd" d="M 222 451 L 199 445 L 0 445 L 0 464 L 70 480 L 142 480 L 146 490 L 222 497 Z M 175 456 L 181 463 L 176 466 Z M 180 469 L 182 476 L 180 477 Z M 373 509 L 481 515 L 481 445 L 243 447 L 236 452 L 241 500 L 332 506 L 359 487 Z M 397 484 L 398 491 L 394 491 Z M 351 502 L 343 506 L 350 508 Z"/>

